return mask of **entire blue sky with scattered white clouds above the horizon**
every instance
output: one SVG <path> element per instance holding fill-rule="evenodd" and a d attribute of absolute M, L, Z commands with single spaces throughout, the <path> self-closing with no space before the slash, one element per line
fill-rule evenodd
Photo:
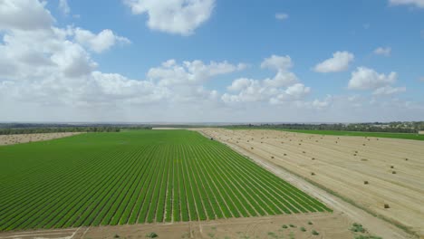
<path fill-rule="evenodd" d="M 19 64 L 20 74 L 0 73 L 0 110 L 11 112 L 0 120 L 424 119 L 422 0 L 7 0 L 0 13 L 11 11 L 7 4 L 21 12 L 0 16 L 3 62 L 20 61 L 14 49 L 23 34 L 41 41 L 43 34 L 43 42 L 81 48 L 81 55 L 29 49 L 63 67 L 41 65 L 32 75 Z M 96 37 L 105 30 L 107 37 Z M 66 67 L 81 56 L 84 71 L 70 76 Z M 193 72 L 184 68 L 196 61 Z M 28 87 L 39 93 L 31 96 Z"/>

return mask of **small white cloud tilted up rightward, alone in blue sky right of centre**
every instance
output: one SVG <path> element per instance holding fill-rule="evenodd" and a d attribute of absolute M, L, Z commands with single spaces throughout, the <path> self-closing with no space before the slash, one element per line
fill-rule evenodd
<path fill-rule="evenodd" d="M 315 72 L 343 72 L 349 68 L 354 55 L 349 52 L 332 53 L 332 58 L 318 63 L 313 70 Z"/>

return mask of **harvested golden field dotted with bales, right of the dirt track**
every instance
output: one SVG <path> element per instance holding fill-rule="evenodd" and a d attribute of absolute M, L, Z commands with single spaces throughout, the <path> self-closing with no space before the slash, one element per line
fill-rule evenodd
<path fill-rule="evenodd" d="M 279 130 L 200 129 L 424 235 L 424 142 Z"/>

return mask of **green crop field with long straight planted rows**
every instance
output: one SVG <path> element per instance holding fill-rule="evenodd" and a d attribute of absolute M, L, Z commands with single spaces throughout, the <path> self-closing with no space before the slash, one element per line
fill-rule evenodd
<path fill-rule="evenodd" d="M 331 211 L 188 130 L 87 133 L 0 147 L 0 231 Z"/>

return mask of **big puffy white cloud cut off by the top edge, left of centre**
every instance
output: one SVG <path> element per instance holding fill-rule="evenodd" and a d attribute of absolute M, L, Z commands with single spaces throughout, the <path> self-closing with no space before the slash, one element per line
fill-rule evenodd
<path fill-rule="evenodd" d="M 209 19 L 215 0 L 123 0 L 132 14 L 148 14 L 150 29 L 189 35 Z"/>

